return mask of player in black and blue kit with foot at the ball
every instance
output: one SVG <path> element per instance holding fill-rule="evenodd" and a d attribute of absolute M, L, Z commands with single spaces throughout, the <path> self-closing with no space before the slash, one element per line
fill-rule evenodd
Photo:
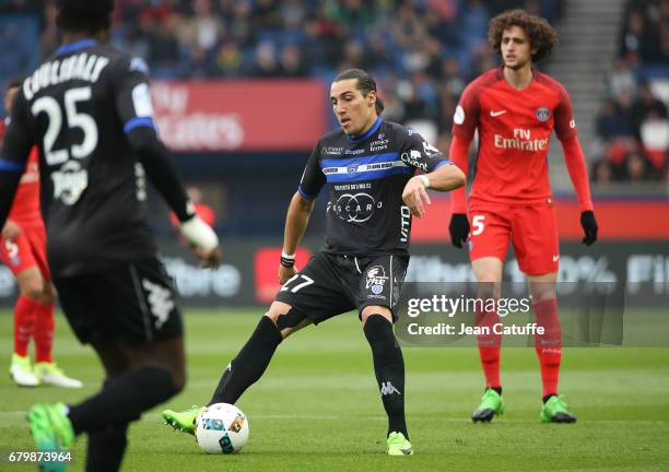
<path fill-rule="evenodd" d="M 465 175 L 415 131 L 384 121 L 376 83 L 363 70 L 341 72 L 330 88 L 341 128 L 325 134 L 309 157 L 289 206 L 274 303 L 228 364 L 209 404 L 234 403 L 257 381 L 283 339 L 337 315 L 357 310 L 372 347 L 388 415 L 387 453 L 412 455 L 404 420 L 404 363 L 392 332 L 409 263 L 411 216 L 422 216 L 426 189 L 448 191 Z M 414 176 L 420 169 L 424 175 Z M 295 250 L 328 187 L 325 248 L 296 271 Z M 193 433 L 202 408 L 166 410 L 165 421 Z"/>

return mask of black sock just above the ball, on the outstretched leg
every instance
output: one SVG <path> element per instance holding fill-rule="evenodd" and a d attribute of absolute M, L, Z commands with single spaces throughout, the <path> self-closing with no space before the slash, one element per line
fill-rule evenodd
<path fill-rule="evenodd" d="M 274 322 L 260 318 L 256 330 L 221 376 L 209 404 L 235 403 L 265 373 L 283 338 Z"/>

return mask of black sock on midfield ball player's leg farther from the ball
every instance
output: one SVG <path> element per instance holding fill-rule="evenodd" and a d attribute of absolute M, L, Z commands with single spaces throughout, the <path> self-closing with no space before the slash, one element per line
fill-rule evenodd
<path fill-rule="evenodd" d="M 365 337 L 372 347 L 374 373 L 388 414 L 388 434 L 402 433 L 407 439 L 404 418 L 404 359 L 392 332 L 392 323 L 382 315 L 372 315 L 365 322 Z"/>

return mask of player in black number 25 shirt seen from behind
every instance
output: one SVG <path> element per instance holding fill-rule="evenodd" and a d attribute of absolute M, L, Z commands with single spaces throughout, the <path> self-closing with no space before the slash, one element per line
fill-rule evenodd
<path fill-rule="evenodd" d="M 146 223 L 145 178 L 204 266 L 219 262 L 220 249 L 157 139 L 145 63 L 104 46 L 114 1 L 57 5 L 63 45 L 23 82 L 11 111 L 0 156 L 0 226 L 36 144 L 54 282 L 106 379 L 82 403 L 31 408 L 31 432 L 43 451 L 66 450 L 86 433 L 86 470 L 118 470 L 129 423 L 181 390 L 186 378 L 181 315 Z"/>

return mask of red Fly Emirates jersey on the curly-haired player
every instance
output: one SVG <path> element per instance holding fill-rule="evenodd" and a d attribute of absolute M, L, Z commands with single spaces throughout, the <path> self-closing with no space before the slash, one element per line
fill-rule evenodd
<path fill-rule="evenodd" d="M 502 68 L 471 82 L 454 116 L 453 133 L 479 153 L 470 200 L 533 204 L 551 196 L 548 151 L 553 129 L 561 141 L 576 135 L 572 102 L 564 86 L 532 70 L 523 91 L 512 87 Z"/>

